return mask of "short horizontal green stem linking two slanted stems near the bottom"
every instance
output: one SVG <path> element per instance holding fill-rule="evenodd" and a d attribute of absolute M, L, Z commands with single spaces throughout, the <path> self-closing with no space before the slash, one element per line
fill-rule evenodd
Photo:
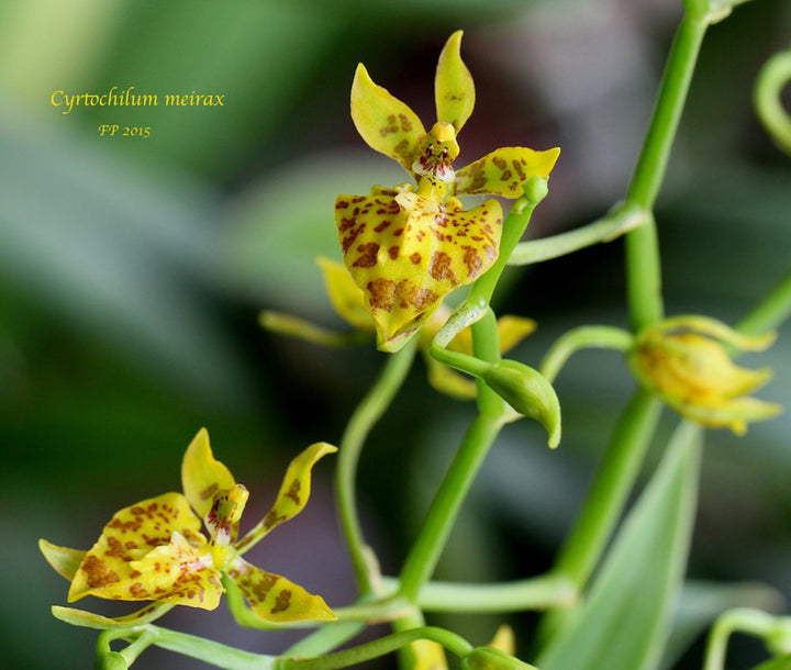
<path fill-rule="evenodd" d="M 385 578 L 387 587 L 398 588 L 399 580 Z M 426 612 L 524 612 L 567 607 L 577 601 L 571 582 L 555 574 L 491 584 L 426 582 L 419 605 Z"/>

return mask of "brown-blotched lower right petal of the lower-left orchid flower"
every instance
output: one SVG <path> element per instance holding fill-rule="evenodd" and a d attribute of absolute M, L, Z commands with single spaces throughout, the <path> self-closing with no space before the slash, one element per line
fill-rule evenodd
<path fill-rule="evenodd" d="M 237 557 L 227 576 L 239 588 L 253 611 L 270 622 L 334 621 L 333 611 L 320 595 L 308 593 L 285 577 L 265 572 Z"/>

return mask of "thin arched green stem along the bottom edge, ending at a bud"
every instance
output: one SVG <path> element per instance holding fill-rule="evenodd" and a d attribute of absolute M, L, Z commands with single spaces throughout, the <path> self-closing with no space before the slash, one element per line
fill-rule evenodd
<path fill-rule="evenodd" d="M 434 626 L 422 626 L 420 628 L 410 628 L 409 630 L 393 633 L 392 635 L 359 645 L 353 649 L 338 651 L 337 654 L 331 654 L 321 658 L 281 657 L 274 666 L 274 670 L 336 670 L 347 668 L 375 658 L 380 658 L 386 654 L 397 651 L 403 646 L 421 639 L 438 643 L 445 647 L 445 649 L 460 658 L 472 651 L 472 645 L 455 633 Z"/>

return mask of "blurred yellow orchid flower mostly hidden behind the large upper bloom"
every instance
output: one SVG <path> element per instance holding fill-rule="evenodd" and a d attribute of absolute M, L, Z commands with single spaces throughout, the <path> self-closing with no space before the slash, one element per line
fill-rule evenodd
<path fill-rule="evenodd" d="M 317 263 L 324 273 L 324 286 L 330 295 L 330 301 L 338 316 L 359 331 L 372 333 L 376 325 L 370 312 L 365 309 L 365 294 L 354 282 L 343 264 L 322 257 L 317 259 Z M 452 370 L 430 354 L 432 339 L 434 339 L 448 316 L 450 316 L 450 310 L 446 305 L 439 305 L 432 313 L 417 335 L 417 348 L 423 354 L 428 371 L 428 383 L 434 389 L 457 400 L 470 400 L 477 394 L 475 381 Z M 500 351 L 504 354 L 511 350 L 533 333 L 535 327 L 535 322 L 531 319 L 510 314 L 499 317 Z M 472 355 L 471 328 L 467 327 L 458 333 L 448 345 L 448 348 Z"/>

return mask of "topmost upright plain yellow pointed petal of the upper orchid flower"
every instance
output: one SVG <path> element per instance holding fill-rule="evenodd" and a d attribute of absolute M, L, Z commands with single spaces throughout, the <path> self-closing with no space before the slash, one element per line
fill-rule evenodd
<path fill-rule="evenodd" d="M 456 31 L 445 43 L 434 79 L 437 120 L 450 123 L 456 133 L 475 108 L 475 83 L 461 60 L 461 34 L 463 31 Z"/>

